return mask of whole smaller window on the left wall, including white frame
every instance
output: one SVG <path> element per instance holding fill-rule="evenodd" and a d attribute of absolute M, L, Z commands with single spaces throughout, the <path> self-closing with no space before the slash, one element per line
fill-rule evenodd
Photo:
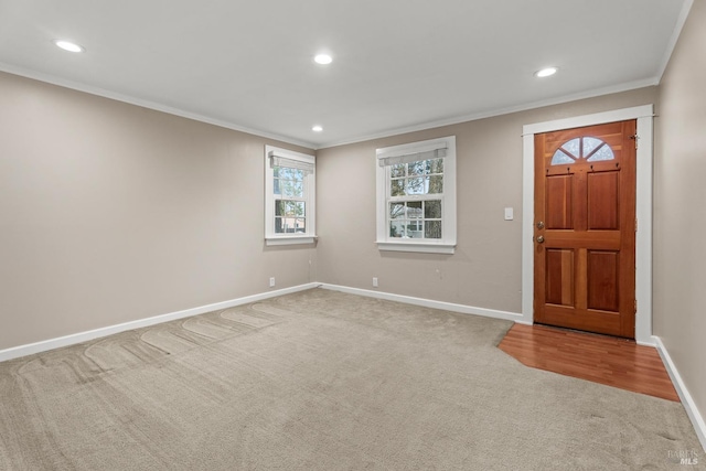
<path fill-rule="evenodd" d="M 265 147 L 265 240 L 267 245 L 315 239 L 315 158 Z"/>

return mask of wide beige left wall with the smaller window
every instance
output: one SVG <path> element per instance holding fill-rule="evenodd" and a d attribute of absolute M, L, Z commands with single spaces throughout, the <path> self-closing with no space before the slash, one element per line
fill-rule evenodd
<path fill-rule="evenodd" d="M 0 73 L 0 350 L 315 279 L 264 248 L 264 146 Z"/>

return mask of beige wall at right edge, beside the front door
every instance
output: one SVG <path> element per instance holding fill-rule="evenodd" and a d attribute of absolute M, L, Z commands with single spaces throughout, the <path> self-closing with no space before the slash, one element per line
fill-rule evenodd
<path fill-rule="evenodd" d="M 706 418 L 706 2 L 695 1 L 660 85 L 654 332 Z"/>

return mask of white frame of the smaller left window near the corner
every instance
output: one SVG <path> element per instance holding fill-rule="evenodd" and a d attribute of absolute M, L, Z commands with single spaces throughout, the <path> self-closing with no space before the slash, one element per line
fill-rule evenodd
<path fill-rule="evenodd" d="M 281 159 L 289 161 L 297 168 L 308 168 L 304 174 L 304 197 L 307 226 L 301 234 L 281 234 L 275 232 L 275 172 L 274 161 Z M 287 165 L 281 165 L 287 167 Z M 265 146 L 265 244 L 266 245 L 295 245 L 313 244 L 317 239 L 317 159 L 314 156 L 295 152 L 274 146 Z"/>

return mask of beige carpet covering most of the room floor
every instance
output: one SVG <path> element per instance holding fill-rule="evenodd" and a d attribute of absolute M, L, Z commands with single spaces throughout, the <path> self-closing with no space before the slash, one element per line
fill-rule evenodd
<path fill-rule="evenodd" d="M 314 289 L 0 363 L 0 469 L 703 469 L 680 404 L 527 368 L 510 325 Z"/>

